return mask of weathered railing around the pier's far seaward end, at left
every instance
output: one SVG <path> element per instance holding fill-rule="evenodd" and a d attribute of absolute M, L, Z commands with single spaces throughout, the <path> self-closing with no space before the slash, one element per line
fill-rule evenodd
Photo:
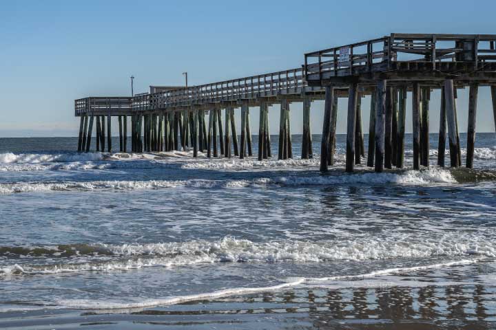
<path fill-rule="evenodd" d="M 118 115 L 129 113 L 132 109 L 132 98 L 127 96 L 80 98 L 74 101 L 76 115 L 99 114 Z"/>

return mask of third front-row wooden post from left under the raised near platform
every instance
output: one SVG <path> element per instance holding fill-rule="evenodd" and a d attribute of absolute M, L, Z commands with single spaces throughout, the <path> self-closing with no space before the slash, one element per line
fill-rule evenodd
<path fill-rule="evenodd" d="M 375 102 L 375 172 L 378 173 L 384 170 L 386 94 L 386 80 L 379 80 Z"/>

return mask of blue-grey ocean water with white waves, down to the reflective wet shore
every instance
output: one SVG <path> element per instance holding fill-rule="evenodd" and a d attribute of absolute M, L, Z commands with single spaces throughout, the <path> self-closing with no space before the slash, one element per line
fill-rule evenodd
<path fill-rule="evenodd" d="M 326 174 L 300 142 L 258 162 L 0 139 L 0 328 L 495 327 L 495 134 L 473 170 L 435 166 L 433 134 L 430 168 L 381 174 L 344 173 L 343 135 Z"/>

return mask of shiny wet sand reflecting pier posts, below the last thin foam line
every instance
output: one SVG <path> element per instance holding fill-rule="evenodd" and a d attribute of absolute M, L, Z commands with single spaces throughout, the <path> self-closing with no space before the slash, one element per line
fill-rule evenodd
<path fill-rule="evenodd" d="M 496 329 L 496 287 L 296 289 L 151 309 L 3 313 L 2 329 Z"/>

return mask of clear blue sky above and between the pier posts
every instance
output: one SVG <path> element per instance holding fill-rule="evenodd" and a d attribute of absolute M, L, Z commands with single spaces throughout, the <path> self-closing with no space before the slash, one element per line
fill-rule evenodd
<path fill-rule="evenodd" d="M 415 5 L 414 5 L 415 3 Z M 303 54 L 391 32 L 496 33 L 496 1 L 2 1 L 0 137 L 74 136 L 74 99 L 298 67 Z M 459 97 L 466 131 L 466 93 Z M 437 130 L 439 102 L 431 106 Z M 365 104 L 367 101 L 365 101 Z M 322 102 L 312 104 L 313 133 Z M 340 100 L 344 121 L 346 101 Z M 278 131 L 271 111 L 271 133 Z M 301 131 L 301 105 L 291 129 Z M 364 127 L 368 125 L 364 105 Z M 254 132 L 258 113 L 252 112 Z M 344 133 L 338 123 L 338 133 Z M 407 121 L 407 129 L 411 124 Z M 494 131 L 487 89 L 477 131 Z M 115 132 L 115 130 L 114 130 Z"/>

